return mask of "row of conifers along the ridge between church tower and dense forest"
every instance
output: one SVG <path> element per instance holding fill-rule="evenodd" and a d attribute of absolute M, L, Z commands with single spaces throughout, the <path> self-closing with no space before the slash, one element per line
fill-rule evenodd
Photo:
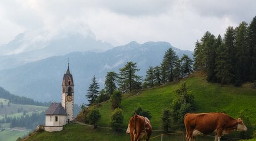
<path fill-rule="evenodd" d="M 146 71 L 144 80 L 137 75 L 136 62 L 127 62 L 124 67 L 119 69 L 119 73 L 114 71 L 107 72 L 105 76 L 105 87 L 99 90 L 96 76 L 93 75 L 92 83 L 88 88 L 86 98 L 88 105 L 97 104 L 111 99 L 114 91 L 121 93 L 131 92 L 142 88 L 160 86 L 174 80 L 178 80 L 193 72 L 193 61 L 188 55 L 177 57 L 171 48 L 166 51 L 160 66 L 150 66 Z"/>

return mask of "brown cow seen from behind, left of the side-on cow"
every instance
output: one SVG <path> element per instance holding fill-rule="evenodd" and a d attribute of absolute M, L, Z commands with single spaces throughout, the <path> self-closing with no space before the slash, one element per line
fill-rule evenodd
<path fill-rule="evenodd" d="M 148 141 L 152 133 L 152 126 L 147 117 L 135 114 L 130 118 L 126 133 L 130 133 L 131 141 Z"/>

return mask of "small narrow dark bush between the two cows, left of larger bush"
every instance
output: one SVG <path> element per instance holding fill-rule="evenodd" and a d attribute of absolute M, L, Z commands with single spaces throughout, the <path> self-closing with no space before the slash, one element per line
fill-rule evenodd
<path fill-rule="evenodd" d="M 171 127 L 171 111 L 170 111 L 170 109 L 166 108 L 163 110 L 161 119 L 162 119 L 163 130 L 164 130 L 164 132 L 168 133 L 168 129 Z"/>

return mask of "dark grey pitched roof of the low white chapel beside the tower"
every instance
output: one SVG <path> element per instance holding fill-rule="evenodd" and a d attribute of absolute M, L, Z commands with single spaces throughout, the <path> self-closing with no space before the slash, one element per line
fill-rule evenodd
<path fill-rule="evenodd" d="M 52 103 L 46 110 L 46 115 L 67 115 L 67 112 L 59 102 Z"/>

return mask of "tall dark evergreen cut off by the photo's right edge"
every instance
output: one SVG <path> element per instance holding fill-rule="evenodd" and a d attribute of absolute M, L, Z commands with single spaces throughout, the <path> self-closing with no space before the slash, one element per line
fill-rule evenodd
<path fill-rule="evenodd" d="M 256 80 L 256 16 L 254 16 L 248 27 L 249 50 L 250 50 L 250 75 L 249 80 Z"/>

